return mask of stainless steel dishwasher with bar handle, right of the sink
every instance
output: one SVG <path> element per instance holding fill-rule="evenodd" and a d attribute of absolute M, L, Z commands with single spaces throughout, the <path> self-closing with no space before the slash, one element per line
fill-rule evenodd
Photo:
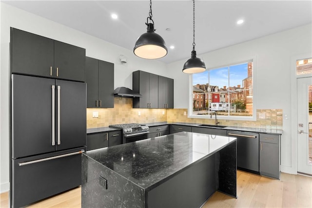
<path fill-rule="evenodd" d="M 259 133 L 227 131 L 237 138 L 237 169 L 259 173 Z"/>

